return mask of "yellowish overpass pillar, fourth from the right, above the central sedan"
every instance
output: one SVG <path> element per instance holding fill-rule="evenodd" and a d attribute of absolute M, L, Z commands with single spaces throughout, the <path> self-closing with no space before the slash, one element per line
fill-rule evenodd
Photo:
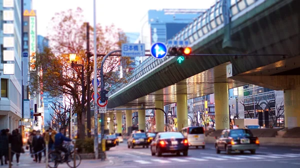
<path fill-rule="evenodd" d="M 155 100 L 155 108 L 163 109 L 163 100 Z M 155 124 L 156 132 L 164 131 L 164 113 L 159 109 L 155 110 Z"/>

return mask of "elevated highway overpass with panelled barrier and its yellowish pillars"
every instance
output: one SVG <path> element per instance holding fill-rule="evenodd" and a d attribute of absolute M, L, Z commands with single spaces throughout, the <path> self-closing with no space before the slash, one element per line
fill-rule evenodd
<path fill-rule="evenodd" d="M 187 99 L 215 93 L 216 129 L 228 128 L 228 88 L 253 83 L 284 89 L 285 126 L 300 126 L 297 6 L 298 0 L 218 1 L 172 39 L 189 40 L 193 53 L 269 55 L 194 56 L 181 64 L 172 56 L 148 57 L 127 83 L 108 93 L 107 108 L 141 104 L 163 108 L 177 102 L 180 129 L 187 126 Z M 279 53 L 284 56 L 272 55 Z M 138 116 L 144 115 L 144 110 L 138 110 Z M 155 119 L 156 129 L 163 130 L 163 114 L 156 113 Z M 144 123 L 142 117 L 139 121 Z"/>

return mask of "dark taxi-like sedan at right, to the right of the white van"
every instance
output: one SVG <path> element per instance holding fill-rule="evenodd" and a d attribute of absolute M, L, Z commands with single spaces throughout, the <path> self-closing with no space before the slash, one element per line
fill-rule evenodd
<path fill-rule="evenodd" d="M 243 153 L 249 150 L 251 154 L 255 154 L 259 147 L 258 137 L 253 136 L 249 129 L 225 129 L 219 138 L 215 138 L 216 153 L 220 153 L 221 150 L 226 151 L 227 154 L 231 151 Z"/>

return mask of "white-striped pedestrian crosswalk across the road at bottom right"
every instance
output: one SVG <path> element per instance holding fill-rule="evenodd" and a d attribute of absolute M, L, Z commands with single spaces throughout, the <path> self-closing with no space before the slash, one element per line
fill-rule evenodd
<path fill-rule="evenodd" d="M 285 154 L 255 154 L 255 155 L 209 155 L 201 157 L 152 157 L 149 159 L 133 160 L 139 164 L 153 164 L 153 163 L 174 163 L 174 162 L 189 162 L 189 161 L 228 161 L 228 160 L 248 160 L 248 159 L 279 159 L 279 158 L 300 158 L 299 154 L 285 153 Z"/>

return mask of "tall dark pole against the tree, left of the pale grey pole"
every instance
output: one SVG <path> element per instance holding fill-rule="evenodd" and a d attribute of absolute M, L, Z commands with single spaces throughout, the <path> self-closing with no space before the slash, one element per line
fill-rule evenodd
<path fill-rule="evenodd" d="M 91 125 L 90 125 L 90 71 L 89 71 L 89 23 L 86 22 L 86 119 L 87 119 L 87 137 L 90 137 Z"/>

